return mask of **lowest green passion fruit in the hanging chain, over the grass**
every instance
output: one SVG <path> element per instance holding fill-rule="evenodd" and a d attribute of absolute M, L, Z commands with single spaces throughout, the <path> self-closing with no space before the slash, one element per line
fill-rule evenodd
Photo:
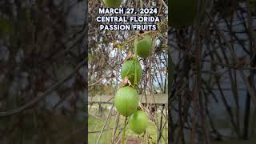
<path fill-rule="evenodd" d="M 142 134 L 147 127 L 147 115 L 142 110 L 137 110 L 129 118 L 130 130 L 133 130 L 136 134 Z"/>

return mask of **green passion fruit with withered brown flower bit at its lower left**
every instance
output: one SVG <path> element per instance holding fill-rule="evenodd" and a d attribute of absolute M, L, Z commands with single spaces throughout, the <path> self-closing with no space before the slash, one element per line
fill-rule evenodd
<path fill-rule="evenodd" d="M 136 60 L 128 60 L 122 64 L 121 77 L 128 77 L 130 83 L 134 86 L 135 70 L 137 74 L 137 82 L 142 78 L 142 66 Z"/>

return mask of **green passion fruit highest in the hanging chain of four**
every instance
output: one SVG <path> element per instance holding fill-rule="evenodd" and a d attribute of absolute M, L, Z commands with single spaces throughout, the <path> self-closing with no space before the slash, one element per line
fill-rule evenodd
<path fill-rule="evenodd" d="M 135 39 L 134 49 L 136 50 L 138 56 L 141 58 L 147 58 L 150 55 L 152 43 L 153 42 L 150 35 L 144 35 L 142 38 Z"/>

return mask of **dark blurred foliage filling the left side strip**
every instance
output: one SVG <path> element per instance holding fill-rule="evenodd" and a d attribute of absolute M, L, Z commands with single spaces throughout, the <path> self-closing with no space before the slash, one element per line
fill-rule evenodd
<path fill-rule="evenodd" d="M 84 141 L 85 6 L 0 2 L 0 143 Z"/>

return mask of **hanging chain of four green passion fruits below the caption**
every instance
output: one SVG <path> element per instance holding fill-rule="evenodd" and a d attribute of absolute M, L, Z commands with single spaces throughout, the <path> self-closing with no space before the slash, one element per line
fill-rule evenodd
<path fill-rule="evenodd" d="M 138 93 L 136 87 L 142 78 L 142 66 L 138 62 L 137 55 L 147 58 L 152 49 L 152 38 L 149 34 L 143 34 L 134 40 L 134 57 L 122 64 L 121 77 L 126 81 L 114 96 L 114 106 L 120 114 L 129 118 L 129 127 L 136 134 L 142 134 L 147 127 L 147 115 L 138 110 Z"/>

